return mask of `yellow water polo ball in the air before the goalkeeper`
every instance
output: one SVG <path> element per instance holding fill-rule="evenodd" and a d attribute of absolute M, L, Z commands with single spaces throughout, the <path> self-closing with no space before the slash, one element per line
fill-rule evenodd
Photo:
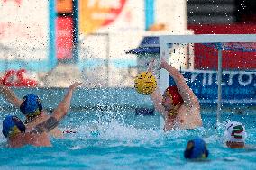
<path fill-rule="evenodd" d="M 142 72 L 136 76 L 134 80 L 134 87 L 140 94 L 152 94 L 157 87 L 157 81 L 151 72 Z"/>

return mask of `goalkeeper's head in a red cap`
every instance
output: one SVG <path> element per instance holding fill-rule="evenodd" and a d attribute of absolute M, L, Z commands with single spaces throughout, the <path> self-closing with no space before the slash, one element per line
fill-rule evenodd
<path fill-rule="evenodd" d="M 162 105 L 167 111 L 178 104 L 184 103 L 181 95 L 178 92 L 177 86 L 169 86 L 162 95 Z"/>

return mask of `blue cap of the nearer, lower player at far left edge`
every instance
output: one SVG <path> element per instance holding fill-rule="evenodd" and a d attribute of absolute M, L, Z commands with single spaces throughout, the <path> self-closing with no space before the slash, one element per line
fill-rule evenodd
<path fill-rule="evenodd" d="M 25 132 L 26 127 L 17 116 L 6 116 L 3 121 L 3 134 L 5 138 L 14 136 L 17 133 Z"/>

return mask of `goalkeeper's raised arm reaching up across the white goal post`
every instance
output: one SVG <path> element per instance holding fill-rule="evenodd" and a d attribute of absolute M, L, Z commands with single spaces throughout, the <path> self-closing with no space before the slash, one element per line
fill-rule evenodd
<path fill-rule="evenodd" d="M 182 96 L 185 104 L 189 107 L 197 107 L 199 109 L 199 102 L 197 96 L 193 93 L 193 91 L 187 85 L 184 76 L 179 73 L 179 71 L 175 68 L 170 66 L 164 58 L 161 59 L 160 68 L 164 68 L 169 72 L 169 75 L 173 77 L 178 91 Z"/>

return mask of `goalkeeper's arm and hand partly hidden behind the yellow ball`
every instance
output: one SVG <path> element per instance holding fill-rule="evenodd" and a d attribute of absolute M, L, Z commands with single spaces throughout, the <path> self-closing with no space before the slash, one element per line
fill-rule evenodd
<path fill-rule="evenodd" d="M 148 71 L 151 72 L 152 74 L 152 68 L 155 60 L 152 59 L 151 62 L 149 63 L 149 68 Z M 157 86 L 156 90 L 151 94 L 151 100 L 154 103 L 155 109 L 160 112 L 160 114 L 165 118 L 168 112 L 165 111 L 164 107 L 162 106 L 162 95 L 160 94 L 160 88 Z"/>

